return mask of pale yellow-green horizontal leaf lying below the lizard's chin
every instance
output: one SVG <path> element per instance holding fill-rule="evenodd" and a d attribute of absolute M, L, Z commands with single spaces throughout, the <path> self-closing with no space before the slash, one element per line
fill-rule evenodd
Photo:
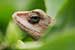
<path fill-rule="evenodd" d="M 27 46 L 27 47 L 26 47 Z M 43 46 L 43 42 L 40 42 L 40 41 L 32 41 L 32 42 L 23 42 L 21 40 L 18 40 L 17 41 L 17 44 L 16 44 L 16 49 L 35 49 L 35 48 L 39 48 Z"/>

